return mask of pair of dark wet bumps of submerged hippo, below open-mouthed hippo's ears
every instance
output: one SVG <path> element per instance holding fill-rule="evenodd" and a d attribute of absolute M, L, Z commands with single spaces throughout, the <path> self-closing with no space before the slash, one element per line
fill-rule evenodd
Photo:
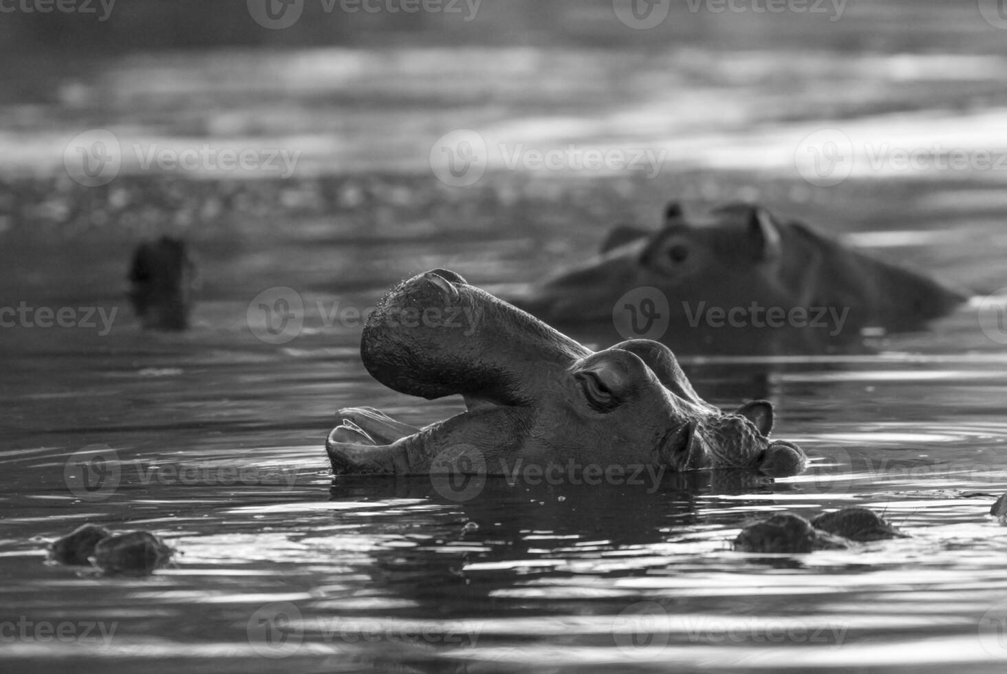
<path fill-rule="evenodd" d="M 734 539 L 739 552 L 801 553 L 846 550 L 858 543 L 907 538 L 869 508 L 842 508 L 809 522 L 800 515 L 782 513 L 745 527 Z"/>

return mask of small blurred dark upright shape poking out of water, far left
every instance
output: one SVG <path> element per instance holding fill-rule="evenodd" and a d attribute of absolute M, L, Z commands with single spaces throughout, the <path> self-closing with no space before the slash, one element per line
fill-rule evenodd
<path fill-rule="evenodd" d="M 165 236 L 141 243 L 133 253 L 127 280 L 127 294 L 144 327 L 188 327 L 195 265 L 184 241 Z"/>

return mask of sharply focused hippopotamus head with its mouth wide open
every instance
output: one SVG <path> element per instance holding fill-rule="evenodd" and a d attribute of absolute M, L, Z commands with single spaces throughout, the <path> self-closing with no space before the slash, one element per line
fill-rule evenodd
<path fill-rule="evenodd" d="M 592 352 L 531 314 L 434 269 L 390 290 L 361 340 L 385 386 L 466 410 L 425 428 L 372 408 L 337 413 L 326 441 L 333 473 L 507 475 L 516 466 L 806 467 L 796 444 L 770 440 L 772 405 L 723 412 L 693 390 L 667 346 L 630 340 Z"/>

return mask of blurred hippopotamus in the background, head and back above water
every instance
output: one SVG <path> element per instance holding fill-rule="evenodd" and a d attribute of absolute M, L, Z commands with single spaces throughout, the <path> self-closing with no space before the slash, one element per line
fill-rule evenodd
<path fill-rule="evenodd" d="M 916 329 L 969 295 L 757 205 L 697 219 L 673 201 L 660 230 L 617 227 L 598 255 L 509 299 L 561 328 L 709 354 L 849 347 L 869 328 Z M 663 334 L 645 333 L 655 318 Z"/>

